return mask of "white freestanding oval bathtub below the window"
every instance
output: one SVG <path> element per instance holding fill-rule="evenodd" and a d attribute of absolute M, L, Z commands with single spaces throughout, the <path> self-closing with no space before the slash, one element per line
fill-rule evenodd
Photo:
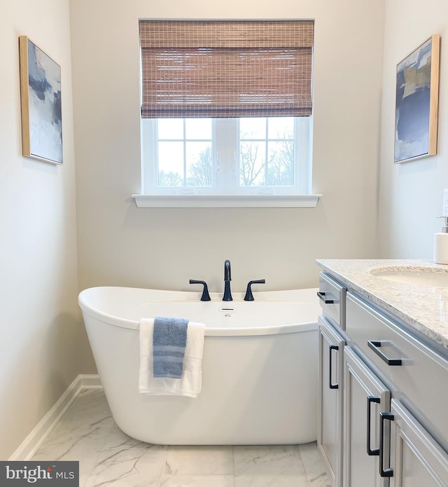
<path fill-rule="evenodd" d="M 301 444 L 316 439 L 316 289 L 200 301 L 199 292 L 93 287 L 79 305 L 113 418 L 153 444 Z M 206 325 L 197 398 L 139 393 L 139 322 Z"/>

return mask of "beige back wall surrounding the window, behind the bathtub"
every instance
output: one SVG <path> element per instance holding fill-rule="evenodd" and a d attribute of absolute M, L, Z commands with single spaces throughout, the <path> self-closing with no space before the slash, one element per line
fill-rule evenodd
<path fill-rule="evenodd" d="M 73 0 L 80 289 L 316 286 L 316 258 L 377 255 L 384 2 Z M 315 18 L 316 209 L 138 209 L 139 18 Z"/>

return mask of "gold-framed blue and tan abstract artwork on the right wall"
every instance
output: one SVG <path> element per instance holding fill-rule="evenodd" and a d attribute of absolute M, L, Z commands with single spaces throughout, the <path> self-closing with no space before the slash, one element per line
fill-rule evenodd
<path fill-rule="evenodd" d="M 440 36 L 435 34 L 397 65 L 394 162 L 437 152 Z"/>

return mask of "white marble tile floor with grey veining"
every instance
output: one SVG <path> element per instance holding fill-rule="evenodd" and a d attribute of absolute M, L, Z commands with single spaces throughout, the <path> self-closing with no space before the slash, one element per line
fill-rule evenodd
<path fill-rule="evenodd" d="M 73 402 L 32 460 L 79 460 L 80 487 L 329 487 L 316 443 L 158 446 L 114 423 L 102 390 Z"/>

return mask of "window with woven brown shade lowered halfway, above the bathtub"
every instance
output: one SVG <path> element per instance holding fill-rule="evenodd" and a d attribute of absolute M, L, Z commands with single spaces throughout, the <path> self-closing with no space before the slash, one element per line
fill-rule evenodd
<path fill-rule="evenodd" d="M 313 27 L 142 20 L 143 193 L 309 193 Z"/>

